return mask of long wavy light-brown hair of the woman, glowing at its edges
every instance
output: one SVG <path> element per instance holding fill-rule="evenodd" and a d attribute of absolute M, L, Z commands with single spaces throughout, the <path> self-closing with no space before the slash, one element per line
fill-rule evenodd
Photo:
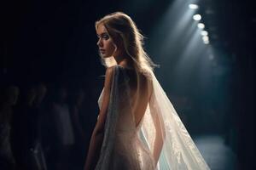
<path fill-rule="evenodd" d="M 157 66 L 148 57 L 143 49 L 143 35 L 137 29 L 131 17 L 122 12 L 115 12 L 96 21 L 96 29 L 103 24 L 113 42 L 119 46 L 122 44 L 125 54 L 131 57 L 133 66 L 137 72 L 153 71 Z"/>

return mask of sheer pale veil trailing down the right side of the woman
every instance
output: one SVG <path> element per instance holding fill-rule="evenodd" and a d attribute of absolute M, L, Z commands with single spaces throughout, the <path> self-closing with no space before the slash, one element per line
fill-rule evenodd
<path fill-rule="evenodd" d="M 163 139 L 157 169 L 210 169 L 181 122 L 171 101 L 154 77 L 154 73 L 151 74 L 153 94 L 143 118 L 140 136 L 152 152 L 159 143 L 156 137 L 160 135 L 159 139 Z M 157 122 L 160 125 L 152 127 L 156 118 L 159 119 Z"/>

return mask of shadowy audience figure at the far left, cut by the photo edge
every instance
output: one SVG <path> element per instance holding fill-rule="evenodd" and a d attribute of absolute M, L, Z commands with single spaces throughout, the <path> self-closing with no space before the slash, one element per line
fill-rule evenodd
<path fill-rule="evenodd" d="M 11 150 L 10 131 L 13 106 L 16 104 L 19 88 L 10 86 L 1 92 L 0 103 L 0 169 L 12 170 L 15 160 Z"/>

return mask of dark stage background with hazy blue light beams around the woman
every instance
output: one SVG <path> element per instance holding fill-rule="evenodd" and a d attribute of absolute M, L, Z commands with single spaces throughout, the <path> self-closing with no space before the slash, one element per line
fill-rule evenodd
<path fill-rule="evenodd" d="M 209 166 L 255 169 L 249 0 L 1 1 L 0 169 L 82 169 L 105 73 L 95 21 L 115 11 L 143 31 L 155 75 Z"/>

